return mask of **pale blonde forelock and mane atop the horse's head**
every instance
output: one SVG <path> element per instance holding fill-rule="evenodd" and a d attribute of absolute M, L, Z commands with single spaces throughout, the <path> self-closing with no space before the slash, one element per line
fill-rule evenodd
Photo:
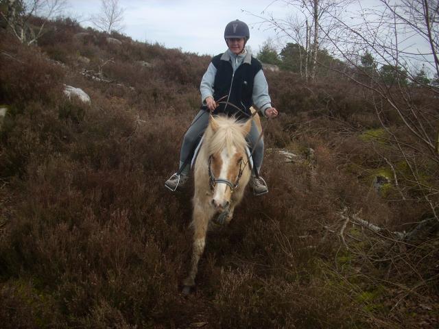
<path fill-rule="evenodd" d="M 230 152 L 235 146 L 239 150 L 244 150 L 246 142 L 246 131 L 242 124 L 229 117 L 215 117 L 218 125 L 216 132 L 213 132 L 209 125 L 209 153 L 214 154 L 227 147 Z"/>

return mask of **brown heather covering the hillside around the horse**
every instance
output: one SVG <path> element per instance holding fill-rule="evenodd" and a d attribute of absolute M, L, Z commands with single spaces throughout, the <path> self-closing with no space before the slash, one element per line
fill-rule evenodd
<path fill-rule="evenodd" d="M 305 85 L 288 72 L 266 73 L 282 112 L 265 132 L 270 193 L 248 191 L 230 226 L 209 232 L 198 288 L 183 297 L 192 186 L 174 195 L 163 183 L 210 58 L 112 37 L 123 47 L 69 19 L 50 23 L 38 47 L 0 34 L 0 103 L 10 109 L 0 132 L 1 328 L 437 326 L 437 234 L 405 245 L 388 231 L 343 229 L 345 207 L 390 232 L 431 211 L 410 182 L 405 202 L 395 188 L 373 190 L 382 155 L 398 154 L 361 137 L 381 127 L 364 90 L 331 78 Z M 62 84 L 91 104 L 65 99 Z M 285 162 L 280 147 L 302 160 Z M 419 165 L 437 187 L 437 167 Z"/>

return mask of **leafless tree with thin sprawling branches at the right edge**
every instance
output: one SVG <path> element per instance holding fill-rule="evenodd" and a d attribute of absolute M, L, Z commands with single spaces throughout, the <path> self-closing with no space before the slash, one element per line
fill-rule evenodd
<path fill-rule="evenodd" d="M 353 67 L 340 73 L 370 90 L 370 102 L 394 154 L 385 162 L 392 169 L 404 167 L 394 170 L 394 175 L 401 176 L 397 187 L 405 194 L 403 199 L 415 196 L 426 202 L 439 221 L 439 112 L 433 105 L 439 89 L 418 74 L 420 66 L 439 74 L 438 2 L 380 0 L 374 8 L 361 8 L 350 22 L 337 22 L 344 38 L 329 40 Z M 322 32 L 329 36 L 325 29 Z M 361 53 L 372 54 L 377 69 L 366 69 L 353 60 Z M 420 97 L 423 103 L 417 100 Z M 395 119 L 390 121 L 389 116 Z"/>

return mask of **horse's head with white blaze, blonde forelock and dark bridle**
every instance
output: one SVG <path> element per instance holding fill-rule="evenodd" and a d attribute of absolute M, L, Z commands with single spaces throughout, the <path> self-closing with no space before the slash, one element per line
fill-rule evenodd
<path fill-rule="evenodd" d="M 212 116 L 209 127 L 213 135 L 209 147 L 209 184 L 213 191 L 212 206 L 217 211 L 228 208 L 232 193 L 239 188 L 246 167 L 246 135 L 252 121 L 236 123 L 232 119 Z"/>

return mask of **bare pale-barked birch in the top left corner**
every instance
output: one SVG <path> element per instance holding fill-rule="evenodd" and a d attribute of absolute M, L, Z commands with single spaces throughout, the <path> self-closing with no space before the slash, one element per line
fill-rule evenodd
<path fill-rule="evenodd" d="M 62 13 L 66 0 L 8 0 L 6 12 L 0 12 L 8 29 L 21 42 L 32 45 L 43 35 L 45 24 Z M 43 18 L 43 23 L 32 25 L 34 16 Z"/>

